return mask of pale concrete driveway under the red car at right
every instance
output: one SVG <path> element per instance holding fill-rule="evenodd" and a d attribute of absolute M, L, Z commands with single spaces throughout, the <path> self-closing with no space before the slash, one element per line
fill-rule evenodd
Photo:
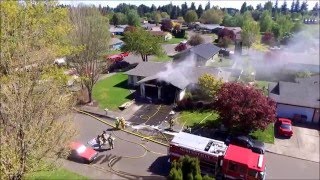
<path fill-rule="evenodd" d="M 274 144 L 267 144 L 267 150 L 309 161 L 319 162 L 319 131 L 293 126 L 290 139 L 275 138 Z"/>

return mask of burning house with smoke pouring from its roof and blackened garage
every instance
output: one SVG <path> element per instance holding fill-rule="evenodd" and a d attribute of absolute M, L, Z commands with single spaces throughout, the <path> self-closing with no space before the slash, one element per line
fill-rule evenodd
<path fill-rule="evenodd" d="M 188 66 L 179 68 L 179 63 L 141 62 L 128 75 L 128 84 L 137 88 L 136 96 L 167 103 L 181 99 L 189 84 L 209 73 L 228 81 L 230 72 L 213 67 Z M 173 68 L 173 70 L 172 70 Z"/>

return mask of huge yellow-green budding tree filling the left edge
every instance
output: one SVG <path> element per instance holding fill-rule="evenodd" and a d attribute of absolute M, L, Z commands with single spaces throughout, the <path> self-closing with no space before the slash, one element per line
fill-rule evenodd
<path fill-rule="evenodd" d="M 67 155 L 75 135 L 67 118 L 57 119 L 74 97 L 65 78 L 43 78 L 55 58 L 73 52 L 66 40 L 71 26 L 67 9 L 53 1 L 3 1 L 0 9 L 1 179 L 25 179 Z"/>

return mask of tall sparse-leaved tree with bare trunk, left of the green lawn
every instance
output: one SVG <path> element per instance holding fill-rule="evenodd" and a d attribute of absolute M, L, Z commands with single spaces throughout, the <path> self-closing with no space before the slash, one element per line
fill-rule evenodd
<path fill-rule="evenodd" d="M 72 8 L 70 18 L 75 26 L 70 38 L 74 46 L 82 47 L 82 51 L 68 59 L 82 77 L 81 83 L 92 102 L 93 86 L 106 68 L 102 53 L 109 47 L 109 22 L 96 8 L 87 6 Z"/>

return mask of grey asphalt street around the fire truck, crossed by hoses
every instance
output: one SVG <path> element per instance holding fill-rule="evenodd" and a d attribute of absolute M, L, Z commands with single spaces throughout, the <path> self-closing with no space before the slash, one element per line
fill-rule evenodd
<path fill-rule="evenodd" d="M 77 140 L 86 145 L 90 139 L 101 134 L 103 130 L 111 130 L 107 125 L 82 114 L 76 113 L 74 121 L 79 129 Z M 115 163 L 111 163 L 113 168 L 128 172 L 129 175 L 119 177 L 106 172 L 103 176 L 101 170 L 85 169 L 84 165 L 73 162 L 66 162 L 65 167 L 94 179 L 102 177 L 104 177 L 103 179 L 159 179 L 167 175 L 170 168 L 166 156 L 167 147 L 147 142 L 122 131 L 114 131 L 113 136 L 116 137 L 115 149 L 106 148 L 102 151 L 94 162 L 94 166 L 108 169 L 108 162 L 115 158 Z M 265 157 L 267 161 L 266 179 L 319 179 L 319 163 L 273 153 L 266 153 Z"/>

